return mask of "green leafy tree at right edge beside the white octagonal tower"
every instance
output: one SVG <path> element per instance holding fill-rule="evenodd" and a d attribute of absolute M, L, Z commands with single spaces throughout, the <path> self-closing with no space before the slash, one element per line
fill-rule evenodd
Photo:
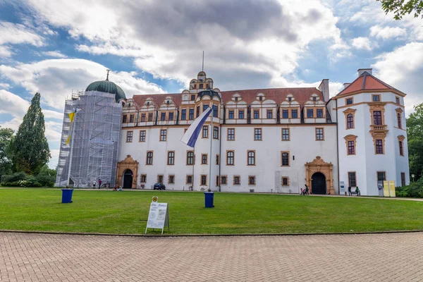
<path fill-rule="evenodd" d="M 418 179 L 423 172 L 423 103 L 407 118 L 407 138 L 410 173 Z"/>

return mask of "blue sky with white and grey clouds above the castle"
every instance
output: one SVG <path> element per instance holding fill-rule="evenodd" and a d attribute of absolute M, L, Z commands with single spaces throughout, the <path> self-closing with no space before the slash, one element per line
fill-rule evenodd
<path fill-rule="evenodd" d="M 127 97 L 179 93 L 202 66 L 221 90 L 317 86 L 358 68 L 423 102 L 423 20 L 375 0 L 0 0 L 0 125 L 42 94 L 50 166 L 72 91 L 110 80 Z"/>

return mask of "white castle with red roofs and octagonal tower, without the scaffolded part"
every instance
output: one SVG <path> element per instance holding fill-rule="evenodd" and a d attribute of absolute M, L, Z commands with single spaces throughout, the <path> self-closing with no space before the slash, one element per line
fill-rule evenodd
<path fill-rule="evenodd" d="M 307 185 L 331 195 L 343 183 L 379 195 L 380 180 L 410 181 L 404 97 L 372 69 L 332 98 L 326 79 L 318 88 L 221 91 L 201 71 L 182 93 L 114 100 L 121 130 L 116 175 L 107 179 L 123 188 L 207 190 L 211 178 L 214 191 L 298 193 Z M 180 142 L 208 107 L 195 148 Z"/>

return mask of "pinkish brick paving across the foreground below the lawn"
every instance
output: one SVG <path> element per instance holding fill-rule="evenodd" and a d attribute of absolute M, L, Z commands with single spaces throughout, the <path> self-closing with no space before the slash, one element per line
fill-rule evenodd
<path fill-rule="evenodd" d="M 0 233 L 0 281 L 423 281 L 423 233 L 178 238 Z"/>

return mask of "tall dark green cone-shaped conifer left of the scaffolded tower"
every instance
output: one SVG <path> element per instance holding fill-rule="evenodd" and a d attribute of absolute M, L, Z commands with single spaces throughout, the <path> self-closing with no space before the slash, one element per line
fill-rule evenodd
<path fill-rule="evenodd" d="M 37 174 L 51 158 L 49 143 L 44 136 L 44 114 L 39 106 L 40 94 L 32 98 L 31 106 L 11 142 L 11 155 L 16 171 Z"/>

